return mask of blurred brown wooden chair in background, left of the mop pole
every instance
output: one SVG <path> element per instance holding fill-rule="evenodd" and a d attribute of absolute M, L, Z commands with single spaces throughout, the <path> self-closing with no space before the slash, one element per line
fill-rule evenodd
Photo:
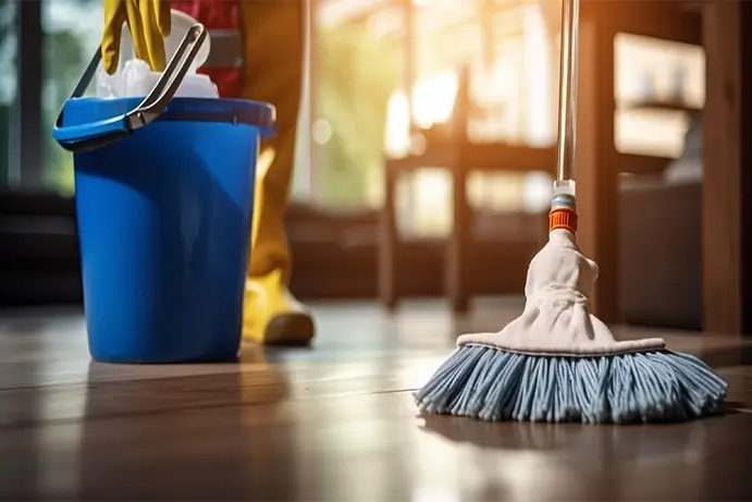
<path fill-rule="evenodd" d="M 467 200 L 467 182 L 471 171 L 548 171 L 555 167 L 555 150 L 551 148 L 530 148 L 504 143 L 472 143 L 467 136 L 468 114 L 471 108 L 469 98 L 469 71 L 460 72 L 459 87 L 455 110 L 448 126 L 442 127 L 444 134 L 427 136 L 426 151 L 399 159 L 386 159 L 384 193 L 385 205 L 382 212 L 381 236 L 379 248 L 379 284 L 382 303 L 390 309 L 396 307 L 405 295 L 405 279 L 409 258 L 405 254 L 405 243 L 397 232 L 395 193 L 397 180 L 405 173 L 420 168 L 443 167 L 452 175 L 452 215 L 453 224 L 446 241 L 445 291 L 456 311 L 467 310 L 472 295 L 473 253 L 473 221 L 472 210 Z M 534 223 L 523 224 L 523 228 L 540 228 L 545 235 L 545 217 L 515 216 L 513 218 L 531 219 Z M 505 249 L 504 256 L 510 260 L 511 267 L 503 267 L 510 273 L 502 278 L 502 285 L 508 291 L 517 289 L 525 280 L 527 266 L 520 267 L 529 260 L 531 253 L 540 246 L 541 238 L 522 241 L 511 240 L 498 243 Z M 508 252 L 508 253 L 507 253 Z"/>

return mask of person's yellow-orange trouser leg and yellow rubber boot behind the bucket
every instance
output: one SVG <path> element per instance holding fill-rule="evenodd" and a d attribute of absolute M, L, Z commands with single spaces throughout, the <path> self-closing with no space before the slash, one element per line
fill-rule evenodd
<path fill-rule="evenodd" d="M 284 228 L 303 84 L 303 0 L 239 2 L 245 39 L 244 97 L 276 107 L 274 138 L 262 145 L 256 176 L 243 336 L 266 344 L 307 344 L 310 311 L 287 290 L 292 257 Z"/>

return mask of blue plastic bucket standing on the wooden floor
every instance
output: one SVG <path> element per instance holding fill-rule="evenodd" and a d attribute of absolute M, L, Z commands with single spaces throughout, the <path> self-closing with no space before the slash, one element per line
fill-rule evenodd
<path fill-rule="evenodd" d="M 89 351 L 111 363 L 236 359 L 274 108 L 175 98 L 147 127 L 121 126 L 139 102 L 71 99 L 53 134 L 75 152 Z"/>

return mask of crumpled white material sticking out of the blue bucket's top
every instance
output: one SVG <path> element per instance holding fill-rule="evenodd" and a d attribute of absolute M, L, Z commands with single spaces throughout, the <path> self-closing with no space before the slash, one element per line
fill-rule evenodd
<path fill-rule="evenodd" d="M 172 30 L 164 40 L 164 52 L 168 61 L 177 50 L 185 33 L 198 21 L 188 14 L 172 10 Z M 196 71 L 206 63 L 211 40 L 209 33 L 201 45 L 196 58 L 194 59 L 188 73 L 183 77 L 183 82 L 175 93 L 176 98 L 219 98 L 219 90 L 208 75 L 198 74 Z M 152 72 L 146 61 L 136 58 L 133 50 L 133 41 L 127 27 L 123 25 L 121 35 L 121 61 L 118 71 L 113 75 L 108 75 L 104 68 L 99 64 L 97 68 L 97 97 L 99 98 L 124 98 L 124 97 L 145 97 L 162 76 L 159 72 Z"/>

